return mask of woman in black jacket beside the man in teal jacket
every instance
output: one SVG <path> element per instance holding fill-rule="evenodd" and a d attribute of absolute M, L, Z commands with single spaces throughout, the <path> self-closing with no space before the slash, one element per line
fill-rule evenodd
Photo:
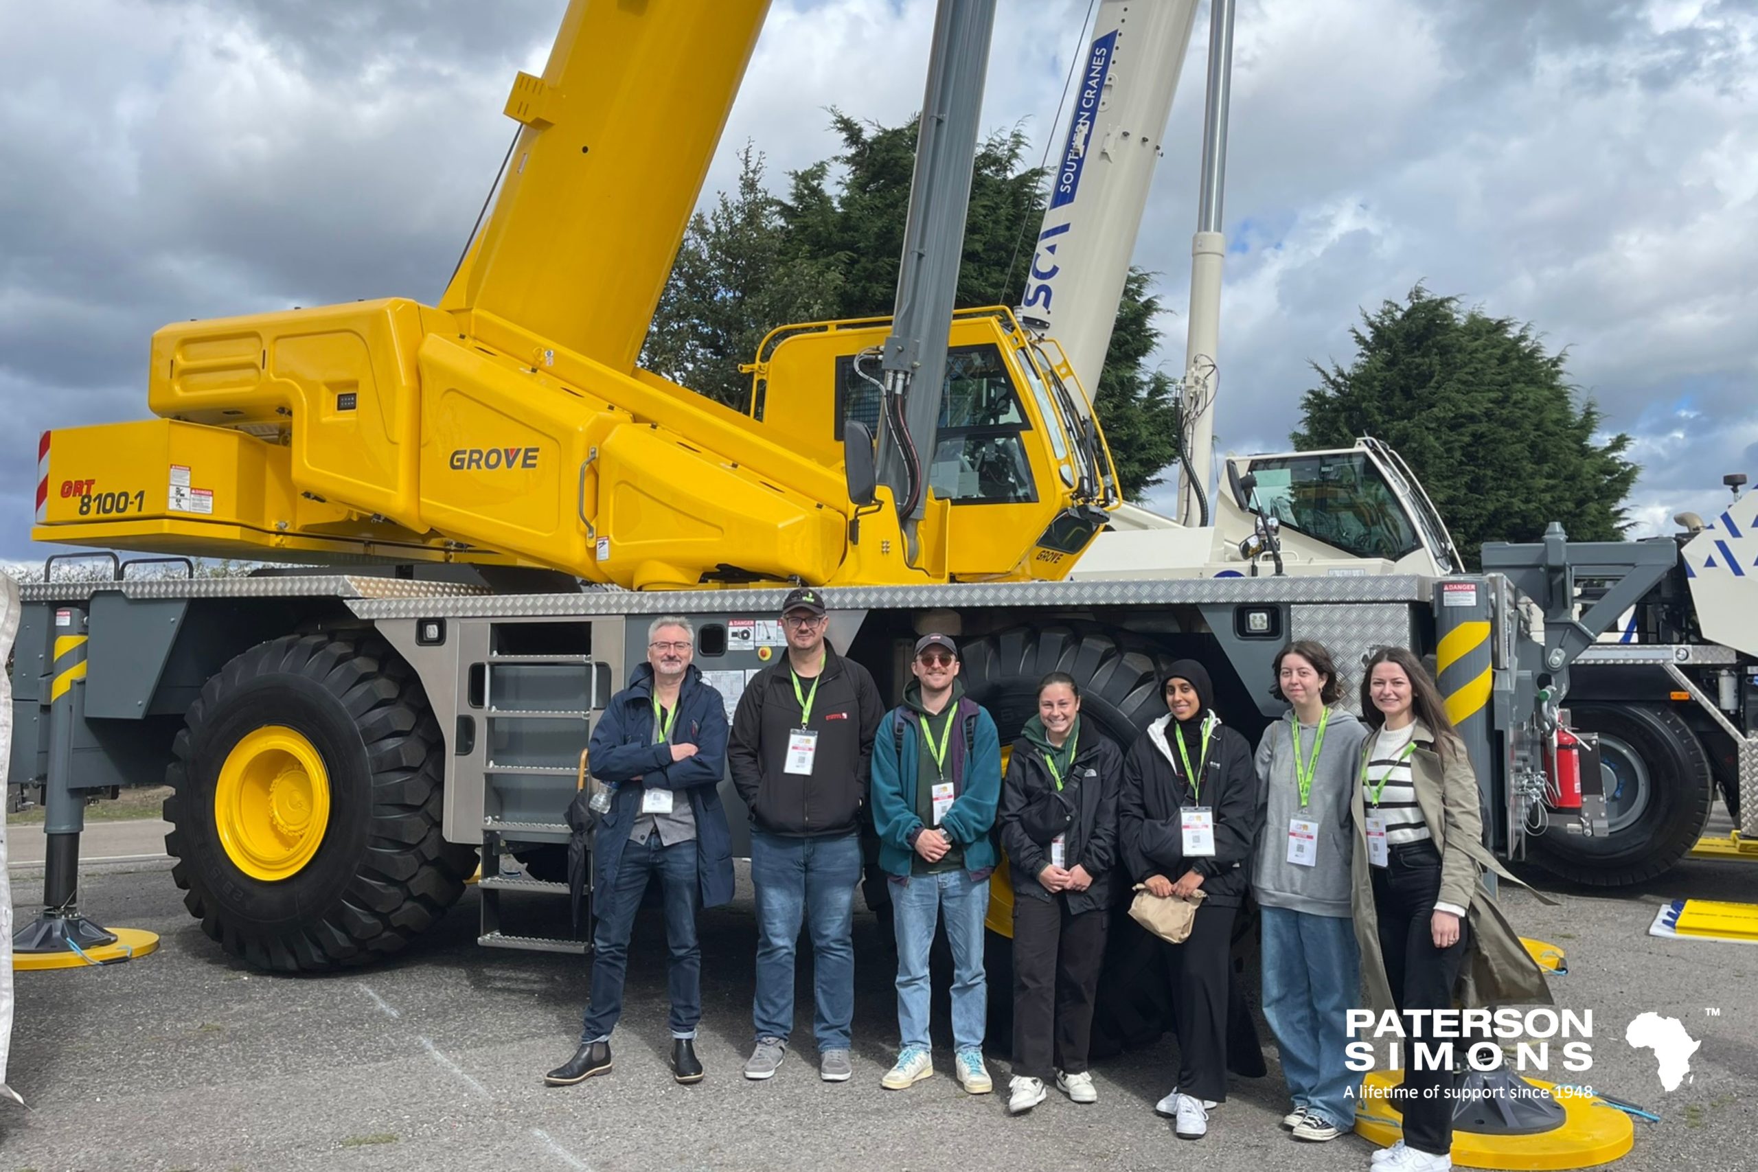
<path fill-rule="evenodd" d="M 1044 1102 L 1044 1082 L 1099 1102 L 1086 1072 L 1093 991 L 1111 917 L 1116 789 L 1123 756 L 1081 729 L 1074 678 L 1037 685 L 1037 715 L 1002 778 L 1000 845 L 1013 873 L 1013 1082 L 1007 1111 Z"/>

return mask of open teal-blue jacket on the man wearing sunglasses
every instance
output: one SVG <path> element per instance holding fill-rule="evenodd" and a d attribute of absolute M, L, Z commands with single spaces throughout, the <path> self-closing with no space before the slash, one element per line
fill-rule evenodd
<path fill-rule="evenodd" d="M 965 870 L 983 872 L 997 863 L 995 807 L 1000 801 L 1000 734 L 981 705 L 951 731 L 953 807 L 941 829 L 965 852 Z M 904 722 L 898 747 L 898 720 Z M 974 726 L 967 733 L 967 722 Z M 916 766 L 921 761 L 921 724 L 909 706 L 893 708 L 879 722 L 872 756 L 874 829 L 879 833 L 879 866 L 888 875 L 909 875 L 916 849 L 911 836 L 921 828 L 916 815 Z M 969 757 L 965 743 L 970 745 Z"/>

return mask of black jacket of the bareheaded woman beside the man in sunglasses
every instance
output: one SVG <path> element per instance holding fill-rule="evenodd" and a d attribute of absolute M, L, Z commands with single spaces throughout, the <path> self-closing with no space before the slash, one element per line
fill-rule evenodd
<path fill-rule="evenodd" d="M 1065 822 L 1062 833 L 1062 859 L 1067 868 L 1086 868 L 1093 877 L 1086 891 L 1062 893 L 1071 912 L 1090 912 L 1111 907 L 1116 872 L 1116 799 L 1123 773 L 1123 754 L 1092 729 L 1081 736 L 1069 777 L 1079 780 L 1076 801 L 1067 791 L 1057 792 L 1057 782 L 1042 756 L 1027 738 L 1013 743 L 1007 773 L 1000 782 L 1000 845 L 1007 852 L 1007 870 L 1013 891 L 1028 900 L 1050 900 L 1037 873 L 1050 866 L 1050 833 Z M 1071 784 L 1069 789 L 1074 785 Z"/>

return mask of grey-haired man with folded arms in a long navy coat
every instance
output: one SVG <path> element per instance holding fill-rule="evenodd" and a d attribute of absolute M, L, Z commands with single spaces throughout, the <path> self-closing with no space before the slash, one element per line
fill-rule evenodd
<path fill-rule="evenodd" d="M 665 891 L 672 951 L 672 1077 L 701 1081 L 701 947 L 696 912 L 733 898 L 731 833 L 717 785 L 726 770 L 726 706 L 691 662 L 687 619 L 654 619 L 647 662 L 592 729 L 592 777 L 614 787 L 592 842 L 592 991 L 575 1056 L 543 1075 L 571 1086 L 610 1074 L 610 1031 L 622 1014 L 629 931 L 647 880 Z"/>

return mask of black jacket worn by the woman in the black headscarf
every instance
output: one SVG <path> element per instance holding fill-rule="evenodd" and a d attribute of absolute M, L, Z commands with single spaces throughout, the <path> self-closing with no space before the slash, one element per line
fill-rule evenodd
<path fill-rule="evenodd" d="M 1202 768 L 1201 801 L 1192 798 L 1183 777 L 1183 761 L 1174 764 L 1178 745 L 1171 717 L 1155 720 L 1123 759 L 1123 794 L 1118 803 L 1118 828 L 1123 865 L 1132 884 L 1148 875 L 1166 875 L 1173 882 L 1185 872 L 1202 875 L 1202 891 L 1217 907 L 1239 907 L 1250 889 L 1252 843 L 1257 840 L 1257 768 L 1252 745 L 1239 733 L 1222 726 L 1210 738 L 1208 766 Z M 1201 749 L 1187 742 L 1192 764 Z M 1185 807 L 1204 805 L 1215 812 L 1215 854 L 1185 857 Z"/>

